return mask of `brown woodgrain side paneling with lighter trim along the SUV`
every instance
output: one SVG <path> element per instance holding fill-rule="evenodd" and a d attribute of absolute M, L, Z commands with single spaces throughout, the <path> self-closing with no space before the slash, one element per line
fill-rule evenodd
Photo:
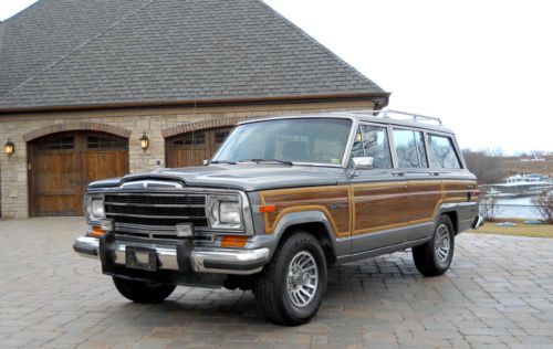
<path fill-rule="evenodd" d="M 264 214 L 265 232 L 272 233 L 286 213 L 321 211 L 338 236 L 367 234 L 432 222 L 441 203 L 477 201 L 476 181 L 419 180 L 371 184 L 268 190 L 261 204 L 276 211 Z"/>

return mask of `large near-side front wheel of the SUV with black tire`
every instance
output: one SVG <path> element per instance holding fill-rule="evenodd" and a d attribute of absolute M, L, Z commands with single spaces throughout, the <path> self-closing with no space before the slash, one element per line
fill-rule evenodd
<path fill-rule="evenodd" d="M 305 268 L 301 265 L 305 265 Z M 292 274 L 289 276 L 291 266 L 295 266 L 295 278 Z M 316 273 L 316 276 L 312 273 Z M 315 279 L 316 285 L 313 285 Z M 313 235 L 296 231 L 281 242 L 257 279 L 253 294 L 270 321 L 295 326 L 309 322 L 315 316 L 326 292 L 326 258 L 321 244 Z M 304 304 L 298 306 L 302 300 Z"/>

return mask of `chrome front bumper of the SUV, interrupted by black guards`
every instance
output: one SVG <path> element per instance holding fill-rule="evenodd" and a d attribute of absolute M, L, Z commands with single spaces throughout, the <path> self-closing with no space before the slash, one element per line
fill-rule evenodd
<path fill-rule="evenodd" d="M 113 262 L 126 265 L 126 247 L 153 248 L 157 253 L 158 268 L 180 271 L 177 248 L 170 245 L 150 243 L 128 243 L 115 241 L 109 244 Z M 100 258 L 100 239 L 81 236 L 73 244 L 73 250 L 85 257 Z M 269 260 L 269 248 L 232 250 L 194 247 L 190 253 L 190 264 L 197 273 L 249 275 L 261 272 Z"/>

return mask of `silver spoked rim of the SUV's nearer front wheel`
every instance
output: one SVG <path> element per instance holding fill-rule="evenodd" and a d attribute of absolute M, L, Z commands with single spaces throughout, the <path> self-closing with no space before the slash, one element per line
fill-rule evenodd
<path fill-rule="evenodd" d="M 286 289 L 292 304 L 299 308 L 307 306 L 316 294 L 319 268 L 307 251 L 294 255 L 288 266 Z"/>

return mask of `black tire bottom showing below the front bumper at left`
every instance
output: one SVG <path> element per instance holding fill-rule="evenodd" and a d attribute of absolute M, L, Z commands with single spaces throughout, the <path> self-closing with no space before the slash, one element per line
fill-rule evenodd
<path fill-rule="evenodd" d="M 113 283 L 119 294 L 135 303 L 161 303 L 177 287 L 176 285 L 147 284 L 121 277 L 113 277 Z"/>

